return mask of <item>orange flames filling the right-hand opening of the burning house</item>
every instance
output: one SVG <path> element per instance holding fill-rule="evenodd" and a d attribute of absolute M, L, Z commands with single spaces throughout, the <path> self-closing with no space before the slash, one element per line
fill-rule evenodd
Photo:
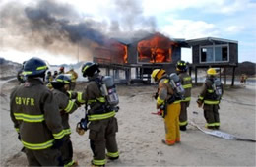
<path fill-rule="evenodd" d="M 150 63 L 171 62 L 173 45 L 173 41 L 157 33 L 152 38 L 138 43 L 138 60 Z"/>

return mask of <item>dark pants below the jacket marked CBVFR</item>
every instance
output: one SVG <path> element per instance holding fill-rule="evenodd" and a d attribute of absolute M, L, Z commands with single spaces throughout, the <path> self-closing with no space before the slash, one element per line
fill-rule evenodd
<path fill-rule="evenodd" d="M 25 150 L 29 166 L 63 166 L 61 152 L 58 149 Z"/>

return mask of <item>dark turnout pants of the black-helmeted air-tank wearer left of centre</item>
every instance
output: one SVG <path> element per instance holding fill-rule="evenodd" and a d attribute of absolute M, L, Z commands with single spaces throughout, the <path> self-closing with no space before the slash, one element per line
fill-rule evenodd
<path fill-rule="evenodd" d="M 94 165 L 105 165 L 105 149 L 107 150 L 106 155 L 110 159 L 119 157 L 115 138 L 118 125 L 115 117 L 92 121 L 89 125 L 89 129 L 90 145 L 94 153 Z"/>

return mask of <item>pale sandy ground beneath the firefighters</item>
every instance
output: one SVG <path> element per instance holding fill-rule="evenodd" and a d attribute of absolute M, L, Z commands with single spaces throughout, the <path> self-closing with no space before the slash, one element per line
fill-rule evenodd
<path fill-rule="evenodd" d="M 9 111 L 9 95 L 17 82 L 1 81 L 1 166 L 26 166 L 23 145 L 17 139 Z M 77 89 L 84 86 L 80 83 Z M 120 110 L 117 142 L 120 159 L 107 161 L 106 166 L 255 166 L 255 142 L 220 139 L 206 135 L 189 125 L 181 132 L 181 143 L 166 146 L 163 120 L 156 112 L 156 101 L 151 97 L 156 85 L 118 85 Z M 255 84 L 245 87 L 226 87 L 220 104 L 221 131 L 237 137 L 255 137 Z M 196 99 L 201 87 L 192 89 L 192 100 L 188 108 L 189 121 L 204 127 L 203 109 L 198 108 Z M 194 114 L 193 114 L 194 113 Z M 75 132 L 77 122 L 84 116 L 83 106 L 70 117 L 71 140 L 74 159 L 80 166 L 90 166 L 92 151 L 88 132 L 79 136 Z"/>

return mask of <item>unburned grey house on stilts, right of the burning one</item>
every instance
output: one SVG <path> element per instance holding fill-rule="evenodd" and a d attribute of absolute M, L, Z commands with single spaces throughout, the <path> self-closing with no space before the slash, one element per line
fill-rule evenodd
<path fill-rule="evenodd" d="M 238 66 L 238 41 L 216 37 L 206 37 L 186 40 L 192 46 L 192 64 L 189 73 L 195 70 L 195 83 L 197 83 L 197 70 L 199 68 L 224 68 L 224 84 L 226 84 L 226 68 L 232 68 L 232 82 L 234 84 L 235 68 Z"/>

